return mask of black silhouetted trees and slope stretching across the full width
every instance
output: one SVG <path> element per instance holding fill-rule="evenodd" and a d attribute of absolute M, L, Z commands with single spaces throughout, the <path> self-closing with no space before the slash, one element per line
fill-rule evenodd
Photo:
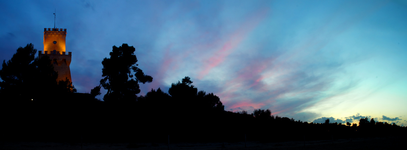
<path fill-rule="evenodd" d="M 28 49 L 32 51 L 29 45 Z M 169 135 L 171 143 L 226 142 L 244 141 L 246 135 L 247 141 L 280 142 L 406 133 L 405 127 L 375 122 L 373 119 L 369 121 L 368 118 L 359 120 L 359 126 L 349 122 L 329 123 L 329 120 L 323 124 L 315 124 L 274 116 L 269 109 L 255 109 L 251 114 L 247 111 L 225 111 L 218 96 L 199 91 L 190 77 L 171 84 L 168 93 L 158 88 L 151 89 L 144 96 L 137 96 L 136 94 L 140 93 L 138 84 L 149 83 L 153 78 L 144 75 L 137 67 L 134 51 L 134 47 L 127 44 L 114 46 L 111 57 L 103 59 L 104 78 L 101 79 L 100 85 L 93 88 L 90 94 L 62 94 L 64 98 L 60 100 L 53 96 L 61 97 L 61 94 L 46 94 L 44 91 L 55 91 L 57 86 L 60 86 L 58 92 L 72 91 L 66 90 L 70 84 L 54 82 L 57 73 L 53 71 L 52 65 L 49 65 L 49 60 L 41 59 L 44 62 L 39 64 L 40 60 L 28 62 L 27 59 L 24 65 L 20 64 L 28 69 L 7 70 L 7 67 L 17 62 L 13 58 L 17 58 L 17 54 L 20 55 L 18 50 L 12 60 L 7 64 L 3 63 L 3 69 L 0 71 L 3 80 L 3 140 L 166 143 Z M 31 59 L 35 53 L 26 52 L 21 55 L 30 56 Z M 43 85 L 32 84 L 37 76 L 26 77 L 29 76 L 25 74 L 28 72 L 23 71 L 29 69 L 48 75 L 42 77 L 54 77 L 54 81 L 47 78 L 49 80 L 44 81 Z M 25 79 L 31 82 L 26 83 Z M 21 85 L 28 86 L 28 91 L 18 90 Z M 50 89 L 47 85 L 54 85 L 50 87 L 55 89 Z M 38 86 L 45 90 L 34 92 Z M 108 91 L 103 97 L 104 101 L 97 101 L 94 97 L 101 94 L 101 88 Z M 5 91 L 9 93 L 4 93 Z M 7 94 L 22 95 L 17 95 L 21 103 L 4 103 L 17 100 L 3 99 Z M 36 94 L 40 95 L 36 98 L 37 101 L 23 101 Z M 48 101 L 50 99 L 54 101 Z"/>

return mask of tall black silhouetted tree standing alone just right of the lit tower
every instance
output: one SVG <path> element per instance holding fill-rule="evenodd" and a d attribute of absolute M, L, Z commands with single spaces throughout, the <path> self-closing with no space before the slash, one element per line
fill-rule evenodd
<path fill-rule="evenodd" d="M 133 46 L 123 44 L 120 47 L 113 46 L 110 58 L 102 61 L 102 77 L 100 84 L 107 90 L 103 97 L 104 101 L 136 101 L 140 86 L 153 81 L 153 77 L 144 75 L 137 66 L 137 57 L 134 55 L 136 49 Z M 133 75 L 134 72 L 134 75 Z M 94 94 L 99 87 L 94 88 Z M 95 94 L 94 94 L 95 95 Z"/>

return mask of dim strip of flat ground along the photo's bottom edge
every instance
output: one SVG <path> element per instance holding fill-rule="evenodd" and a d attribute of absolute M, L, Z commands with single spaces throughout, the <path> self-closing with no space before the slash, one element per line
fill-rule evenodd
<path fill-rule="evenodd" d="M 403 137 L 374 137 L 324 141 L 289 141 L 280 143 L 170 143 L 170 150 L 366 150 L 405 147 Z M 4 142 L 4 150 L 167 150 L 159 143 L 53 143 L 53 142 Z"/>

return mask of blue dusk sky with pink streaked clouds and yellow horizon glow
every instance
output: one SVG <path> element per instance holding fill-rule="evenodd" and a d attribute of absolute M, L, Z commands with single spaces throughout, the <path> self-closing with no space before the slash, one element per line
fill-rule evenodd
<path fill-rule="evenodd" d="M 42 51 L 54 11 L 78 92 L 98 86 L 103 58 L 127 43 L 153 77 L 139 96 L 188 76 L 226 111 L 407 126 L 403 0 L 3 0 L 0 60 L 28 43 Z"/>

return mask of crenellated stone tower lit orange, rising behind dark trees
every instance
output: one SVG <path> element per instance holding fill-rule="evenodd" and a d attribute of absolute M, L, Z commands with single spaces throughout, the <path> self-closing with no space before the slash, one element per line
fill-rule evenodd
<path fill-rule="evenodd" d="M 49 56 L 54 70 L 58 72 L 57 81 L 68 78 L 72 82 L 71 70 L 69 69 L 72 55 L 71 52 L 68 54 L 65 52 L 65 38 L 66 29 L 44 28 L 44 54 L 42 51 L 38 51 L 38 58 L 44 55 Z"/>

